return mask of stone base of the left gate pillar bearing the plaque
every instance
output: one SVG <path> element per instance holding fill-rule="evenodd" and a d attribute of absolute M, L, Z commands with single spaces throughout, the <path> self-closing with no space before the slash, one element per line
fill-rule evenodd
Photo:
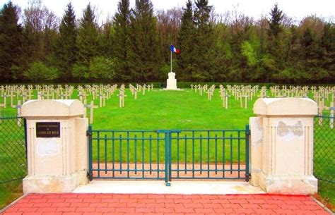
<path fill-rule="evenodd" d="M 67 176 L 27 176 L 23 178 L 23 193 L 72 192 L 88 183 L 86 175 L 86 171 L 80 171 Z"/>

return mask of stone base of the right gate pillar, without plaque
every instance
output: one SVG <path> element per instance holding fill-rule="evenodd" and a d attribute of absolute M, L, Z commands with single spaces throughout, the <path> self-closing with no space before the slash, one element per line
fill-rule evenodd
<path fill-rule="evenodd" d="M 266 193 L 310 195 L 317 192 L 314 176 L 265 176 L 259 177 L 259 186 Z"/>

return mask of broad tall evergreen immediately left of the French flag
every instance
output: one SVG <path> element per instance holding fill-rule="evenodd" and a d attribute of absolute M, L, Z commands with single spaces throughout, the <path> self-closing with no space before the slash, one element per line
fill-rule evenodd
<path fill-rule="evenodd" d="M 167 47 L 168 49 L 168 47 Z M 150 0 L 136 0 L 131 16 L 131 77 L 133 80 L 156 80 L 160 67 L 157 20 Z"/>

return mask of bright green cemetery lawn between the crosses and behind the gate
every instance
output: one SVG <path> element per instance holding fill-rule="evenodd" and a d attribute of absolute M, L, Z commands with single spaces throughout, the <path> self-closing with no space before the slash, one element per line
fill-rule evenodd
<path fill-rule="evenodd" d="M 118 92 L 114 92 L 111 99 L 106 101 L 106 106 L 99 109 L 94 109 L 94 122 L 93 122 L 93 130 L 151 130 L 151 133 L 144 135 L 144 137 L 150 139 L 155 138 L 157 133 L 154 130 L 158 129 L 180 129 L 180 130 L 243 130 L 245 129 L 245 125 L 249 123 L 249 117 L 254 116 L 252 112 L 252 106 L 257 96 L 254 97 L 252 101 L 248 102 L 248 109 L 244 109 L 240 107 L 240 101 L 235 100 L 233 97 L 229 98 L 228 109 L 223 109 L 221 98 L 219 97 L 218 89 L 213 94 L 213 98 L 211 101 L 208 101 L 207 94 L 203 96 L 199 95 L 199 92 L 196 93 L 191 91 L 190 89 L 184 89 L 184 91 L 160 91 L 158 89 L 154 89 L 151 92 L 146 92 L 145 95 L 141 93 L 138 94 L 138 99 L 134 100 L 134 96 L 131 95 L 129 90 L 126 91 L 127 97 L 125 99 L 125 107 L 119 108 L 118 97 L 116 96 Z M 269 95 L 269 94 L 268 94 Z M 310 97 L 312 94 L 310 93 Z M 35 97 L 37 97 L 35 92 Z M 72 95 L 72 99 L 78 99 L 78 92 L 74 90 L 74 94 Z M 92 97 L 88 97 L 88 103 L 90 102 Z M 7 97 L 7 104 L 9 104 L 10 99 Z M 243 101 L 244 102 L 244 101 Z M 2 97 L 0 97 L 0 103 L 2 103 Z M 14 99 L 14 104 L 16 104 L 16 99 Z M 98 105 L 98 99 L 95 99 L 95 105 Z M 328 103 L 326 105 L 329 105 Z M 89 116 L 89 111 L 87 111 L 87 115 Z M 16 114 L 16 109 L 7 108 L 2 109 L 3 115 L 13 115 Z M 325 128 L 326 129 L 326 128 Z M 327 135 L 334 134 L 334 130 L 327 131 Z M 132 133 L 130 136 L 134 138 L 134 135 L 137 135 L 136 138 L 141 138 L 141 133 Z M 191 152 L 192 150 L 192 140 L 187 139 L 187 147 L 184 146 L 184 142 L 182 138 L 184 135 L 187 135 L 187 138 L 192 137 L 189 133 L 181 133 L 180 142 L 177 143 L 177 140 L 172 142 L 172 161 L 192 161 L 192 154 L 187 153 L 187 156 L 184 156 L 185 151 Z M 97 135 L 97 133 L 94 133 Z M 107 139 L 111 138 L 111 133 L 100 133 L 100 137 L 105 137 L 107 135 Z M 118 133 L 117 135 L 122 135 L 122 138 L 127 137 L 127 133 Z M 151 137 L 150 137 L 151 135 Z M 200 138 L 201 135 L 201 138 Z M 215 135 L 217 135 L 218 140 L 215 140 Z M 241 133 L 240 137 L 243 137 L 245 134 Z M 96 136 L 95 136 L 96 137 Z M 119 137 L 119 136 L 118 136 Z M 160 135 L 163 138 L 163 134 Z M 174 134 L 174 137 L 177 137 Z M 194 143 L 194 159 L 195 161 L 199 161 L 203 159 L 203 161 L 210 162 L 222 162 L 222 161 L 230 161 L 233 159 L 234 162 L 245 161 L 245 142 L 243 140 L 240 143 L 237 140 L 233 140 L 232 144 L 230 144 L 230 134 L 226 133 L 224 135 L 225 152 L 223 153 L 223 135 L 221 133 L 208 133 L 199 132 L 196 134 L 197 138 L 203 140 L 201 142 L 199 139 Z M 207 141 L 206 137 L 211 137 L 213 139 Z M 233 137 L 237 137 L 237 134 L 233 134 Z M 135 139 L 136 139 L 135 138 Z M 112 140 L 107 140 L 107 150 L 110 152 L 111 150 L 111 142 Z M 163 140 L 160 140 L 163 142 Z M 96 140 L 93 142 L 95 145 L 97 144 Z M 1 142 L 0 142 L 1 144 Z M 3 143 L 2 143 L 3 144 Z M 119 149 L 119 141 L 115 140 L 115 152 L 118 152 Z M 129 158 L 127 147 L 129 144 Z M 237 156 L 237 148 L 240 144 L 240 156 Z M 177 145 L 180 145 L 179 151 Z M 318 146 L 319 143 L 315 142 L 315 145 Z M 209 147 L 208 147 L 209 146 Z M 122 140 L 123 151 L 121 154 L 122 160 L 134 161 L 135 154 L 136 161 L 141 162 L 152 160 L 157 161 L 157 156 L 150 156 L 150 152 L 148 148 L 150 147 L 148 141 L 145 144 L 146 151 L 141 154 L 142 150 L 142 142 L 141 140 L 136 142 L 136 149 L 134 140 L 131 140 L 129 143 L 127 141 Z M 163 155 L 164 147 L 157 148 L 157 143 L 155 141 L 152 142 L 152 154 L 157 154 L 158 151 Z M 211 150 L 208 152 L 208 148 Z M 214 148 L 217 148 L 218 154 L 214 153 Z M 96 161 L 97 157 L 97 147 L 93 148 L 93 159 Z M 316 147 L 316 149 L 319 149 Z M 334 148 L 333 148 L 334 149 Z M 103 153 L 105 150 L 105 142 L 104 140 L 100 141 L 100 161 L 105 161 L 105 154 Z M 233 158 L 231 157 L 230 151 L 233 150 Z M 136 153 L 135 153 L 136 151 Z M 179 155 L 178 153 L 179 152 Z M 111 161 L 112 155 L 106 154 L 107 160 Z M 162 156 L 163 158 L 164 156 Z M 119 154 L 115 154 L 115 161 L 120 159 Z M 161 159 L 161 158 L 159 158 Z M 330 162 L 328 168 L 324 168 L 325 173 L 331 174 L 331 171 L 334 170 L 334 154 L 324 154 L 324 160 Z M 161 160 L 162 161 L 162 160 Z M 331 165 L 333 164 L 333 165 Z M 333 168 L 331 168 L 333 166 Z M 329 172 L 330 171 L 330 172 Z M 332 172 L 334 174 L 334 171 Z M 335 202 L 334 192 L 329 192 L 327 188 L 325 188 L 322 183 L 320 183 L 319 187 L 321 194 L 323 196 L 327 196 L 330 202 Z M 8 190 L 8 189 L 6 189 Z M 14 189 L 15 190 L 15 189 Z M 20 189 L 17 189 L 20 190 Z M 10 195 L 11 192 L 6 192 L 4 194 L 0 193 L 0 202 L 6 202 L 6 199 Z M 1 199 L 2 198 L 2 199 Z M 3 203 L 4 204 L 4 203 Z"/>

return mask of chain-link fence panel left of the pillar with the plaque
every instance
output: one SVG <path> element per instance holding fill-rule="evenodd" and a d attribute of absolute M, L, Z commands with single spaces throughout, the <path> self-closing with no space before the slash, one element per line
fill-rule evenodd
<path fill-rule="evenodd" d="M 19 180 L 27 174 L 25 120 L 0 117 L 0 183 Z"/>

